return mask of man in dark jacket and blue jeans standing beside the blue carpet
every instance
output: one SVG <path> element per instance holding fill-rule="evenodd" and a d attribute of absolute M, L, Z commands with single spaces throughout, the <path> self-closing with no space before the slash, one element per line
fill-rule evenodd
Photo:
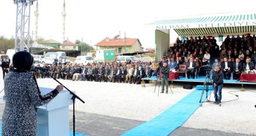
<path fill-rule="evenodd" d="M 223 77 L 224 77 L 224 74 L 222 73 L 222 71 L 220 71 L 220 67 L 215 66 L 215 72 L 213 75 L 215 104 L 221 104 Z"/>

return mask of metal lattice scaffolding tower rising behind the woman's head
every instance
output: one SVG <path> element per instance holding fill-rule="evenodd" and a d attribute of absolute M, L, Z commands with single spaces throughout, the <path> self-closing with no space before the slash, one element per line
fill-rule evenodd
<path fill-rule="evenodd" d="M 30 52 L 30 7 L 35 0 L 13 0 L 17 5 L 15 50 Z"/>

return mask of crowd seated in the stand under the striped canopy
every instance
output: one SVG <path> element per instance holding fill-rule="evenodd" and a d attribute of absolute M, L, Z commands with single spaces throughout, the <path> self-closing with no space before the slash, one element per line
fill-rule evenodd
<path fill-rule="evenodd" d="M 218 46 L 215 37 L 190 37 L 183 42 L 177 38 L 162 61 L 167 61 L 170 71 L 179 71 L 180 64 L 186 65 L 187 78 L 205 76 L 204 67 L 208 65 L 212 67 L 212 75 L 218 65 L 225 79 L 239 79 L 242 72 L 255 73 L 255 50 L 255 34 L 232 35 L 231 38 L 227 35 L 221 46 Z"/>

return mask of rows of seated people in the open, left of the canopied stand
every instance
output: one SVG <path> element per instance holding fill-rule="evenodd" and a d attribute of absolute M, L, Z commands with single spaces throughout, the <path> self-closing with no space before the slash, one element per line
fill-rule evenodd
<path fill-rule="evenodd" d="M 49 78 L 45 72 L 34 69 L 33 65 L 31 73 L 36 78 Z M 73 81 L 96 81 L 96 82 L 117 82 L 117 83 L 134 83 L 140 84 L 141 79 L 157 75 L 159 64 L 153 62 L 124 62 L 117 63 L 115 61 L 103 63 L 88 64 L 44 64 L 50 75 L 57 79 L 73 80 Z"/>

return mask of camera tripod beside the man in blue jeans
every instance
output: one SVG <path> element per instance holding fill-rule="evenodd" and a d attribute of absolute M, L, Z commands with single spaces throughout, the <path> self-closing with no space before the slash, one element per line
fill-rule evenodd
<path fill-rule="evenodd" d="M 202 106 L 204 102 L 211 102 L 210 101 L 210 96 L 209 96 L 209 99 L 208 99 L 208 92 L 210 90 L 210 94 L 211 94 L 211 90 L 215 89 L 214 88 L 214 83 L 212 82 L 212 80 L 211 80 L 209 75 L 210 75 L 210 72 L 206 71 L 206 76 L 205 76 L 205 80 L 204 80 L 204 86 L 203 86 L 201 98 L 200 98 L 200 101 L 199 101 L 200 106 Z M 209 86 L 212 86 L 212 89 L 209 89 Z M 205 98 L 206 100 L 202 102 L 202 98 L 203 98 L 204 92 L 206 92 L 206 98 Z M 219 104 L 219 106 L 221 106 L 221 103 Z"/>

